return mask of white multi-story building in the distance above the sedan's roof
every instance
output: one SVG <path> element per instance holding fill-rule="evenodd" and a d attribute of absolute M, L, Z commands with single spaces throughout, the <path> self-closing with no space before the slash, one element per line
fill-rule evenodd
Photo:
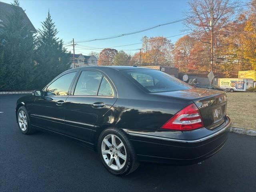
<path fill-rule="evenodd" d="M 86 56 L 83 54 L 75 54 L 73 58 L 73 54 L 71 54 L 72 63 L 70 68 L 77 68 L 77 67 L 85 67 L 85 66 L 97 66 L 98 60 L 95 56 Z M 74 62 L 75 60 L 75 62 Z"/>

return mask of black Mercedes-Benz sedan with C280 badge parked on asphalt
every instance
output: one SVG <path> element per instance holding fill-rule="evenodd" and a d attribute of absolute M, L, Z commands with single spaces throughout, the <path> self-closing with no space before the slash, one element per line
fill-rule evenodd
<path fill-rule="evenodd" d="M 194 88 L 136 66 L 67 70 L 18 99 L 23 134 L 43 130 L 98 151 L 112 174 L 139 162 L 194 164 L 223 148 L 230 128 L 226 93 Z"/>

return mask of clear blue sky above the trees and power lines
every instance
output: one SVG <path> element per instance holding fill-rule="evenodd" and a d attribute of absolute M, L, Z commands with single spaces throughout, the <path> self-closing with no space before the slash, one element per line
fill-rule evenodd
<path fill-rule="evenodd" d="M 11 3 L 10 0 L 2 0 Z M 186 0 L 169 1 L 83 1 L 83 0 L 20 0 L 20 6 L 26 10 L 35 28 L 41 28 L 48 10 L 59 31 L 58 37 L 64 42 L 90 40 L 108 37 L 125 32 L 140 30 L 157 24 L 184 18 L 188 10 Z M 142 36 L 174 36 L 186 29 L 182 22 L 161 26 L 152 30 L 110 40 L 80 43 L 91 47 L 111 47 L 138 43 Z M 181 36 L 170 38 L 173 42 Z M 137 49 L 141 45 L 116 48 Z M 72 47 L 67 47 L 71 50 Z M 91 50 L 76 53 L 88 54 Z M 134 53 L 131 51 L 130 53 Z"/>

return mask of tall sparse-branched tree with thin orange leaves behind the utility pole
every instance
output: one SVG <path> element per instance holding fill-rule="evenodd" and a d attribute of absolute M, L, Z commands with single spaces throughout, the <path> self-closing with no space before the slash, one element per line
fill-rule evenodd
<path fill-rule="evenodd" d="M 200 58 L 204 60 L 204 66 L 210 69 L 210 48 L 211 48 L 211 12 L 213 10 L 212 25 L 214 28 L 214 53 L 222 44 L 221 36 L 228 34 L 230 26 L 235 23 L 236 5 L 238 1 L 233 0 L 190 0 L 190 9 L 186 12 L 188 19 L 185 26 L 192 31 L 191 36 L 200 41 L 203 48 Z M 198 46 L 198 45 L 197 45 Z M 201 48 L 200 48 L 201 49 Z M 209 58 L 206 61 L 206 58 Z M 202 65 L 203 66 L 203 65 Z M 201 70 L 200 68 L 198 68 Z"/>

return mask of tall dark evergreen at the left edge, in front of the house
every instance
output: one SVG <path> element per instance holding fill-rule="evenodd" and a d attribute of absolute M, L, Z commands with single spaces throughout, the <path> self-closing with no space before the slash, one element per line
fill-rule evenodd
<path fill-rule="evenodd" d="M 33 82 L 34 38 L 18 0 L 0 32 L 0 89 L 28 90 Z"/>

